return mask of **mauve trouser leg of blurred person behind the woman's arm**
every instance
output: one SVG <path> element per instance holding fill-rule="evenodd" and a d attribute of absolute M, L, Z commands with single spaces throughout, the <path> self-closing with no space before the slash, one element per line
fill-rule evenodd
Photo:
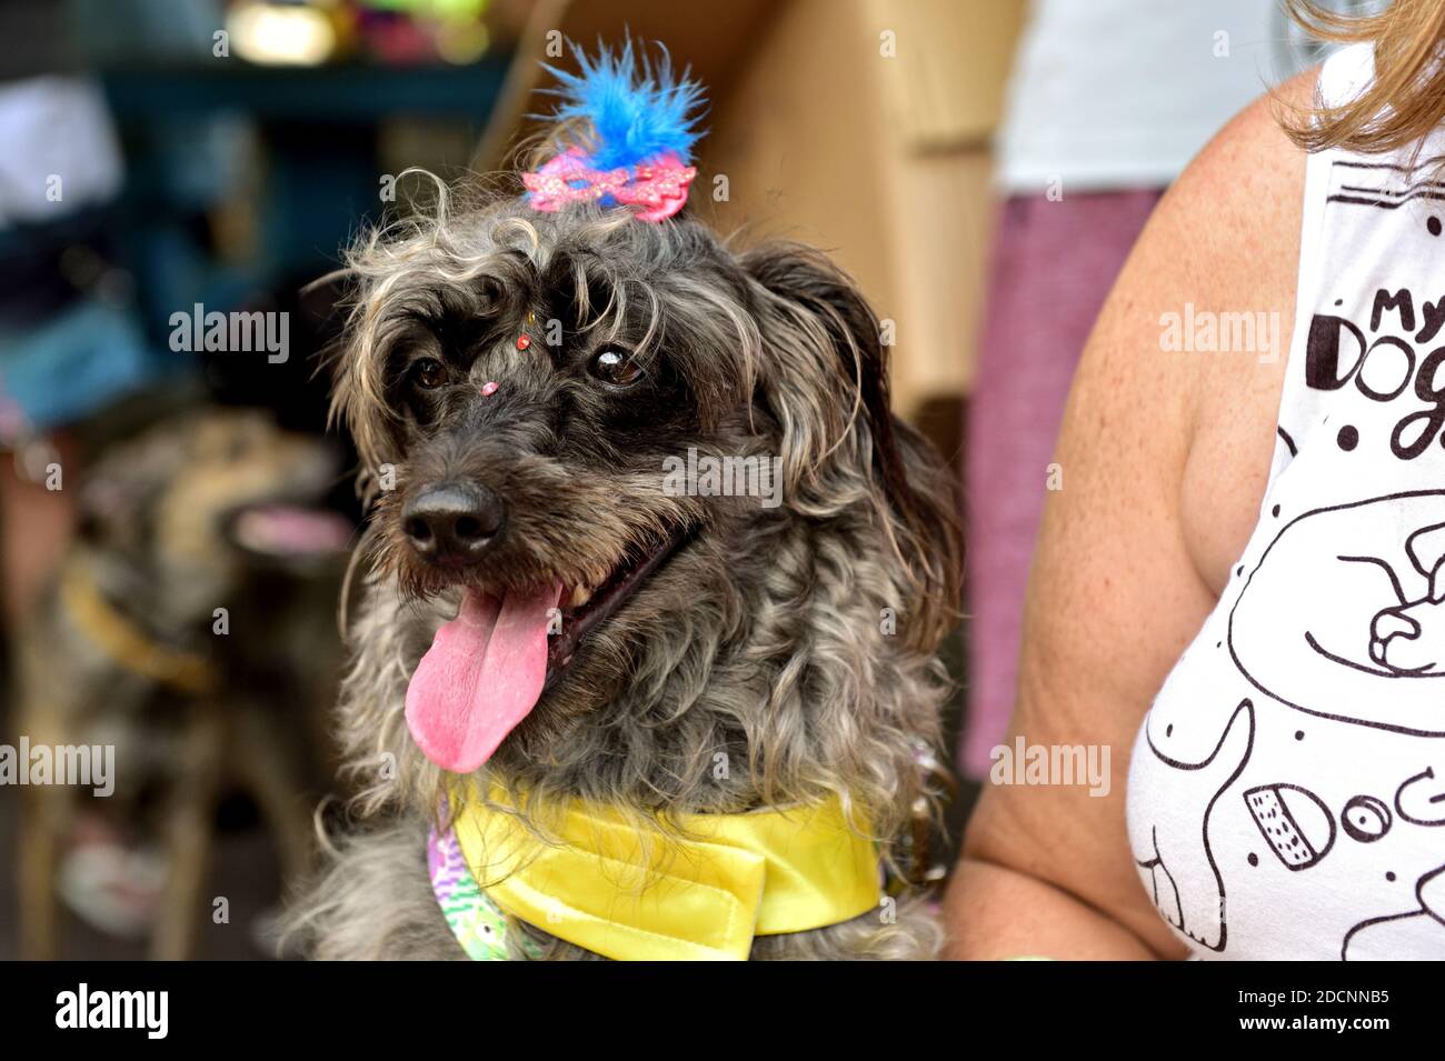
<path fill-rule="evenodd" d="M 1162 192 L 1006 199 L 967 446 L 970 704 L 961 765 L 984 777 L 1013 712 L 1023 592 L 1079 351 Z M 1059 478 L 1066 488 L 1068 469 Z"/>

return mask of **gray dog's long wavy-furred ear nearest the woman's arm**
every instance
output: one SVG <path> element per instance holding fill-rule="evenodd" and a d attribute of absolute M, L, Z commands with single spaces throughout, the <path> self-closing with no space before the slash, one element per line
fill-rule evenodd
<path fill-rule="evenodd" d="M 785 499 L 814 517 L 871 504 L 916 595 L 896 602 L 900 626 L 932 650 L 958 618 L 957 492 L 928 442 L 893 416 L 879 319 L 857 284 L 812 248 L 773 244 L 740 263 L 760 289 L 756 401 L 779 424 Z"/>

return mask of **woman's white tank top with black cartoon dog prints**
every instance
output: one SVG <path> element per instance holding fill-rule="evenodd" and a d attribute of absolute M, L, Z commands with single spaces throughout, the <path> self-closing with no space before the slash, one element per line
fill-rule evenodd
<path fill-rule="evenodd" d="M 1371 72 L 1344 49 L 1321 92 Z M 1198 957 L 1445 959 L 1441 154 L 1308 162 L 1259 523 L 1130 762 L 1139 873 Z"/>

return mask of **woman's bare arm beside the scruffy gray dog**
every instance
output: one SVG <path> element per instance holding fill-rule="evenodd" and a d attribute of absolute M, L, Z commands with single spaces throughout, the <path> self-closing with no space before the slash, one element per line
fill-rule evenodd
<path fill-rule="evenodd" d="M 1308 100 L 1315 74 L 1286 98 Z M 1088 785 L 985 785 L 949 888 L 951 956 L 1178 957 L 1124 827 L 1134 735 L 1254 527 L 1298 270 L 1303 154 L 1240 114 L 1165 196 L 1085 348 L 1025 618 L 1013 735 L 1110 751 Z M 1168 352 L 1165 313 L 1277 313 L 1280 349 Z M 1043 489 L 1046 469 L 1039 469 Z"/>

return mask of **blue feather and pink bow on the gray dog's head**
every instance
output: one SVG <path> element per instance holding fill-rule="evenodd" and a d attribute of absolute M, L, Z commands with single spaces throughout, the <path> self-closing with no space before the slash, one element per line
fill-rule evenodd
<path fill-rule="evenodd" d="M 587 133 L 584 143 L 522 175 L 535 209 L 594 201 L 642 206 L 643 221 L 682 209 L 696 176 L 688 163 L 702 137 L 702 87 L 659 51 L 653 62 L 629 39 L 616 53 L 600 45 L 595 58 L 577 49 L 577 74 L 545 66 L 558 79 L 549 94 L 561 100 L 551 118 L 585 123 Z"/>

